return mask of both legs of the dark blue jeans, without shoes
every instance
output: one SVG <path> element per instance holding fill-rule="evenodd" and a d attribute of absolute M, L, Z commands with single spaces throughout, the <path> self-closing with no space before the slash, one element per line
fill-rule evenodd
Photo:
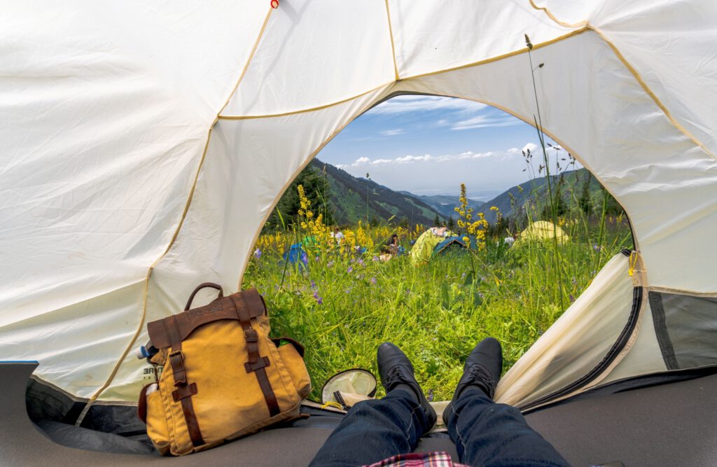
<path fill-rule="evenodd" d="M 528 426 L 515 407 L 496 404 L 467 387 L 445 423 L 461 463 L 469 466 L 569 466 L 553 446 Z M 393 390 L 381 400 L 351 407 L 310 466 L 361 466 L 414 451 L 430 428 L 414 396 Z"/>

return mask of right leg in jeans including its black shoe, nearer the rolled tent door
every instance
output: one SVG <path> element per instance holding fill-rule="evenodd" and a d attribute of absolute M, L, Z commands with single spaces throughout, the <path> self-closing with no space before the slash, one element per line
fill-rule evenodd
<path fill-rule="evenodd" d="M 569 466 L 528 426 L 520 410 L 493 402 L 503 349 L 483 339 L 465 362 L 453 400 L 443 412 L 458 457 L 470 466 Z"/>

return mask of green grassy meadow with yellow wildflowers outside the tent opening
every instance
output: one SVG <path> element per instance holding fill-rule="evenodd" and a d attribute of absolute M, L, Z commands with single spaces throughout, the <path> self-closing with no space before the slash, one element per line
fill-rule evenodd
<path fill-rule="evenodd" d="M 265 296 L 272 334 L 304 344 L 313 400 L 320 400 L 326 379 L 344 369 L 369 369 L 378 377 L 376 348 L 384 341 L 412 359 L 430 399 L 448 400 L 465 357 L 480 339 L 493 336 L 503 344 L 507 370 L 609 258 L 632 247 L 627 220 L 608 215 L 604 202 L 602 210 L 598 202 L 585 212 L 572 199 L 561 215 L 551 217 L 569 241 L 521 239 L 512 247 L 503 239 L 519 234 L 538 214 L 496 227 L 462 205 L 455 232 L 471 233 L 470 250 L 451 248 L 413 265 L 411 242 L 430 226 L 359 223 L 344 228 L 337 245 L 322 215 L 311 212 L 303 187 L 299 194 L 298 219 L 257 241 L 244 287 Z M 406 253 L 380 260 L 394 233 Z M 290 263 L 285 253 L 298 242 L 303 254 Z"/>

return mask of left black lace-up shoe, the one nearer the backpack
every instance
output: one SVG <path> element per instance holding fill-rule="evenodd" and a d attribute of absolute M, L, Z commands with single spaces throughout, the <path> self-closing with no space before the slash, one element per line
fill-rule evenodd
<path fill-rule="evenodd" d="M 391 342 L 384 342 L 379 346 L 376 361 L 379 364 L 381 384 L 384 385 L 386 393 L 394 389 L 403 389 L 409 390 L 416 397 L 416 402 L 419 403 L 427 418 L 427 428 L 423 434 L 428 433 L 436 423 L 436 411 L 423 395 L 423 390 L 414 377 L 413 365 L 406 354 Z"/>

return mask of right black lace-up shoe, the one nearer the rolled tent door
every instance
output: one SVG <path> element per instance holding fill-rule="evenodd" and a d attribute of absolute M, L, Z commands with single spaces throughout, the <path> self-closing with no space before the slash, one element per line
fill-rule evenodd
<path fill-rule="evenodd" d="M 473 352 L 470 352 L 468 358 L 465 359 L 463 376 L 455 387 L 453 399 L 443 411 L 443 423 L 446 423 L 446 418 L 452 410 L 453 402 L 460 397 L 460 393 L 467 387 L 478 387 L 478 389 L 485 392 L 485 395 L 493 399 L 502 369 L 503 349 L 500 347 L 500 342 L 493 339 L 493 337 L 486 337 L 475 346 Z"/>

